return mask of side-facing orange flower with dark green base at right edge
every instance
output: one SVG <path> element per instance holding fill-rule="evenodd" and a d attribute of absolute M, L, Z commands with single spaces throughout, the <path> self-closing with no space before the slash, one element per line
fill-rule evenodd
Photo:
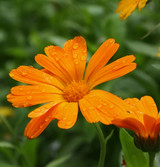
<path fill-rule="evenodd" d="M 160 114 L 157 106 L 150 96 L 144 96 L 141 100 L 129 98 L 125 100 L 128 105 L 128 113 L 119 115 L 112 123 L 134 131 L 135 144 L 146 152 L 160 150 Z"/>

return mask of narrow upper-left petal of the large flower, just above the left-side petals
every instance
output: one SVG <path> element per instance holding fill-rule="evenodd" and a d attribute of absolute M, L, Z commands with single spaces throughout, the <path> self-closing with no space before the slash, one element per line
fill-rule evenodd
<path fill-rule="evenodd" d="M 49 46 L 49 47 L 51 50 L 52 47 L 51 46 Z M 49 47 L 47 47 L 46 50 L 49 49 Z M 63 57 L 64 57 L 64 54 L 63 54 Z M 64 70 L 62 67 L 60 67 L 60 65 L 58 64 L 59 59 L 56 60 L 56 58 L 57 58 L 57 56 L 55 56 L 55 58 L 53 59 L 53 58 L 47 57 L 43 54 L 38 54 L 38 55 L 36 55 L 35 60 L 39 65 L 41 65 L 42 67 L 44 67 L 45 69 L 50 71 L 52 73 L 52 75 L 53 74 L 56 75 L 63 82 L 67 83 L 70 76 L 68 75 L 66 70 Z"/>

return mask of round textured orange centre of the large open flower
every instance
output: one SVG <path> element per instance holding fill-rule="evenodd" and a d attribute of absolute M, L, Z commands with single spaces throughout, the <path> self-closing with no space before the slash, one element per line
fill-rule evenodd
<path fill-rule="evenodd" d="M 73 81 L 63 90 L 63 97 L 69 102 L 78 102 L 88 94 L 89 86 L 84 81 Z"/>

